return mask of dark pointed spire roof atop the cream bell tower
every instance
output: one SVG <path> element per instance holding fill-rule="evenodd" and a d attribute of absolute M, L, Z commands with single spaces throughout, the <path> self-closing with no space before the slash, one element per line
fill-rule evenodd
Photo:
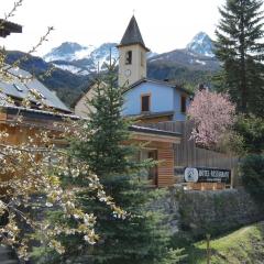
<path fill-rule="evenodd" d="M 119 44 L 119 46 L 128 46 L 131 44 L 140 44 L 146 51 L 150 51 L 142 38 L 140 28 L 136 23 L 135 16 L 133 15 L 130 20 L 130 23 L 124 32 L 124 35 Z"/>

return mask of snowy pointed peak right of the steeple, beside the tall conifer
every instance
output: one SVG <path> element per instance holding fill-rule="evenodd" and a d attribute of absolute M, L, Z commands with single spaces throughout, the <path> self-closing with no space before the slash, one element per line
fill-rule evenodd
<path fill-rule="evenodd" d="M 186 50 L 191 53 L 215 57 L 212 41 L 205 32 L 199 32 L 195 35 L 190 43 L 186 46 Z"/>

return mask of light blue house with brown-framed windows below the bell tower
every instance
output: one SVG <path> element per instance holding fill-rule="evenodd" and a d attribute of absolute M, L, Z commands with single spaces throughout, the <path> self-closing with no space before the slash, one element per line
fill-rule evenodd
<path fill-rule="evenodd" d="M 124 94 L 123 114 L 142 122 L 185 121 L 190 94 L 166 81 L 141 79 Z"/>

